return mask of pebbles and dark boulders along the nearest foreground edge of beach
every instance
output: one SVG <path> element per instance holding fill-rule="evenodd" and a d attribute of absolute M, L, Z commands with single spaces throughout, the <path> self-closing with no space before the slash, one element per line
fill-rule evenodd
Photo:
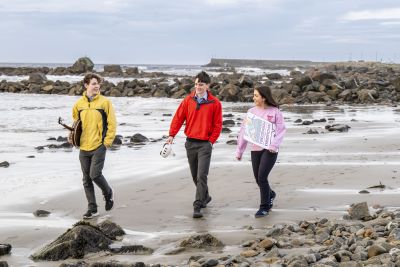
<path fill-rule="evenodd" d="M 93 253 L 106 255 L 151 255 L 152 248 L 140 244 L 112 245 L 122 240 L 124 230 L 111 221 L 99 224 L 77 222 L 50 244 L 31 255 L 36 262 L 81 259 L 61 263 L 60 267 L 358 267 L 400 265 L 400 211 L 388 211 L 374 206 L 373 213 L 366 202 L 351 205 L 342 220 L 326 218 L 298 223 L 279 223 L 259 229 L 256 238 L 239 246 L 237 255 L 223 255 L 223 242 L 209 233 L 196 234 L 171 244 L 164 255 L 187 252 L 184 265 L 146 264 L 142 261 L 97 261 Z M 253 231 L 249 226 L 246 231 Z M 112 247 L 113 246 L 113 247 Z M 11 252 L 9 244 L 1 244 L 4 253 Z M 213 252 L 214 258 L 202 255 Z M 87 255 L 91 254 L 87 259 Z M 83 259 L 83 260 L 82 260 Z M 134 259 L 134 258 L 133 258 Z M 6 264 L 6 265 L 4 265 Z M 3 263 L 2 266 L 7 266 Z"/>

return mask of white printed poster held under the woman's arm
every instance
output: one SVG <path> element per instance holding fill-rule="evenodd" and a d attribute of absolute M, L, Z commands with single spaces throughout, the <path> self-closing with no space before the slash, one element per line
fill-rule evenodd
<path fill-rule="evenodd" d="M 276 125 L 250 112 L 247 112 L 243 123 L 244 139 L 269 149 L 276 136 Z"/>

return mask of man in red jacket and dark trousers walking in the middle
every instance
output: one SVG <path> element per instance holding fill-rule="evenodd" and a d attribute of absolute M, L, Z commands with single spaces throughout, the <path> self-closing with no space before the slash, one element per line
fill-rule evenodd
<path fill-rule="evenodd" d="M 201 218 L 202 208 L 211 201 L 208 194 L 207 175 L 210 169 L 212 146 L 222 130 L 221 102 L 210 91 L 210 76 L 204 71 L 197 74 L 195 90 L 183 99 L 175 112 L 169 129 L 168 144 L 186 121 L 185 148 L 190 172 L 196 185 L 193 218 Z"/>

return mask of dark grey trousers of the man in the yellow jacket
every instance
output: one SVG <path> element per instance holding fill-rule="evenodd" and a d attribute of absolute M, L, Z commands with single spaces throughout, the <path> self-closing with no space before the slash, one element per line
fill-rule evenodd
<path fill-rule="evenodd" d="M 93 182 L 101 189 L 104 196 L 111 193 L 111 188 L 102 174 L 106 151 L 106 147 L 101 145 L 92 151 L 81 150 L 79 152 L 79 161 L 81 162 L 83 174 L 83 188 L 85 189 L 88 209 L 90 210 L 97 209 Z"/>

